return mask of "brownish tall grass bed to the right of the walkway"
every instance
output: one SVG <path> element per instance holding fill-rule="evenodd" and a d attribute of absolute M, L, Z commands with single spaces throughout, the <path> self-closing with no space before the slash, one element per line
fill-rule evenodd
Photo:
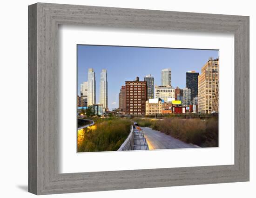
<path fill-rule="evenodd" d="M 200 147 L 218 147 L 218 118 L 201 119 L 134 119 L 141 127 L 150 127 L 186 143 Z"/>

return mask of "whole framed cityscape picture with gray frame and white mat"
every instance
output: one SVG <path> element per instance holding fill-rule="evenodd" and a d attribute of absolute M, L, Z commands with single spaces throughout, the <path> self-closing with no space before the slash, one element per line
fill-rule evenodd
<path fill-rule="evenodd" d="M 249 181 L 249 17 L 28 6 L 28 191 Z"/>

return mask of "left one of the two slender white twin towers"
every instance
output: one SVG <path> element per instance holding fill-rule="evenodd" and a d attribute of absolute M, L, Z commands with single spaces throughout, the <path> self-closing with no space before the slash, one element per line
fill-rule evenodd
<path fill-rule="evenodd" d="M 88 106 L 96 103 L 96 81 L 94 69 L 88 69 Z"/>

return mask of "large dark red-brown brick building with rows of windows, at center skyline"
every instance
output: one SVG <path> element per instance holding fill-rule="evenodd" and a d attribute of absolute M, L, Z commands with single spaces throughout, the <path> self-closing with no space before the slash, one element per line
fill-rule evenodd
<path fill-rule="evenodd" d="M 140 81 L 136 77 L 135 81 L 125 82 L 125 114 L 145 115 L 147 100 L 147 82 Z"/>

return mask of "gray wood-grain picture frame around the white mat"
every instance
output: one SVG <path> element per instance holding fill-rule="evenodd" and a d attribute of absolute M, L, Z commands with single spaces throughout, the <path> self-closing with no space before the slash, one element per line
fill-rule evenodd
<path fill-rule="evenodd" d="M 235 164 L 58 172 L 58 25 L 235 35 Z M 75 66 L 75 65 L 74 65 Z M 28 6 L 28 191 L 90 192 L 249 181 L 249 17 L 37 3 Z"/>

